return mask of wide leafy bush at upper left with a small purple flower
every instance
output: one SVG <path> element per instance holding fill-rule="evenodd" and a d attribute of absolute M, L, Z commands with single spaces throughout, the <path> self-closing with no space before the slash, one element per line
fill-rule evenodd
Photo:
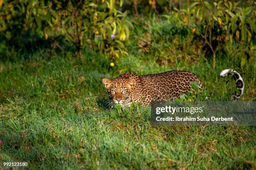
<path fill-rule="evenodd" d="M 114 59 L 119 54 L 127 55 L 124 42 L 132 24 L 125 17 L 112 0 L 7 1 L 0 10 L 0 32 L 10 39 L 15 30 L 32 30 L 41 38 L 54 40 L 61 50 L 64 48 L 56 39 L 64 37 L 79 55 L 83 48 L 90 47 Z"/>

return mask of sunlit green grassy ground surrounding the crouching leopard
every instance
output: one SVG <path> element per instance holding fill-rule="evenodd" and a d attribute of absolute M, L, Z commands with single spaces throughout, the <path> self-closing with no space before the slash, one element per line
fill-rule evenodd
<path fill-rule="evenodd" d="M 39 50 L 22 60 L 0 61 L 0 160 L 27 161 L 37 169 L 255 169 L 254 127 L 153 127 L 149 107 L 110 117 L 102 107 L 102 78 L 120 73 L 195 72 L 214 95 L 225 97 L 221 70 L 234 68 L 245 81 L 241 100 L 255 99 L 255 62 L 240 68 L 218 54 L 217 68 L 199 61 L 159 64 L 138 49 L 110 67 L 98 53 L 83 58 Z"/>

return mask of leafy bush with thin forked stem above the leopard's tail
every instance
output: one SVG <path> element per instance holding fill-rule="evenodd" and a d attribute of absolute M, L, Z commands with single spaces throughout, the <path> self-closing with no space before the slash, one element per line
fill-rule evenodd
<path fill-rule="evenodd" d="M 249 43 L 255 34 L 255 11 L 250 6 L 239 7 L 238 2 L 219 1 L 210 4 L 208 1 L 193 2 L 183 13 L 183 22 L 202 37 L 205 45 L 213 54 L 212 65 L 215 68 L 216 52 L 227 41 L 234 39 Z"/>

